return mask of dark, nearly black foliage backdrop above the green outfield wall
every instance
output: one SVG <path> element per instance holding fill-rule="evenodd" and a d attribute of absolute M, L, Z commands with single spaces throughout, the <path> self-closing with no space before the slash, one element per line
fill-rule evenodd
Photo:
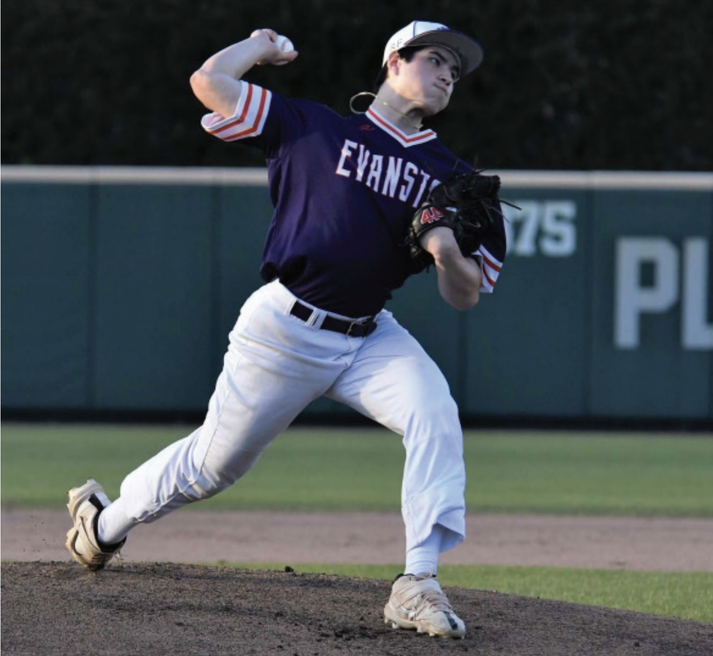
<path fill-rule="evenodd" d="M 247 78 L 349 112 L 413 19 L 483 66 L 429 126 L 489 168 L 713 170 L 713 3 L 698 0 L 5 0 L 5 164 L 262 165 L 200 128 L 188 78 L 272 27 L 300 52 Z"/>

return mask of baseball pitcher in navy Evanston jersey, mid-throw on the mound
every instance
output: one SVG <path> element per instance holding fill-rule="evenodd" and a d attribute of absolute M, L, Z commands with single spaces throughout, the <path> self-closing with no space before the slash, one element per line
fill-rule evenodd
<path fill-rule="evenodd" d="M 69 492 L 67 546 L 79 563 L 103 568 L 139 523 L 231 486 L 324 395 L 403 436 L 406 563 L 385 622 L 465 635 L 436 578 L 439 554 L 466 533 L 458 409 L 434 361 L 384 306 L 424 270 L 404 247 L 414 212 L 441 180 L 471 171 L 421 121 L 448 106 L 482 56 L 470 36 L 414 21 L 387 42 L 368 110 L 346 117 L 243 79 L 253 66 L 297 58 L 271 29 L 193 73 L 195 96 L 210 110 L 207 133 L 265 153 L 275 205 L 265 285 L 230 332 L 204 424 L 130 473 L 113 503 L 92 479 Z M 463 255 L 449 227 L 419 240 L 448 304 L 470 309 L 493 291 L 505 256 L 502 219 L 472 254 Z"/>

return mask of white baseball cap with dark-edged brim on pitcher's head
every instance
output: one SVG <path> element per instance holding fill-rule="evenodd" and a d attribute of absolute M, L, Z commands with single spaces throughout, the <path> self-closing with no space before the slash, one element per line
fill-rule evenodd
<path fill-rule="evenodd" d="M 461 61 L 461 77 L 478 68 L 483 61 L 483 47 L 478 41 L 463 32 L 452 30 L 441 23 L 414 21 L 401 28 L 389 39 L 384 48 L 383 66 L 394 50 L 406 46 L 443 46 L 452 51 Z"/>

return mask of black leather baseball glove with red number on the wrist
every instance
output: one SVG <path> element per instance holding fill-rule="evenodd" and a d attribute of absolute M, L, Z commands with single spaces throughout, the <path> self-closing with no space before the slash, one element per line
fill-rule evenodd
<path fill-rule="evenodd" d="M 453 230 L 463 255 L 476 252 L 483 235 L 493 230 L 503 216 L 498 190 L 500 178 L 481 175 L 479 171 L 460 173 L 444 180 L 431 191 L 411 219 L 406 233 L 411 258 L 426 266 L 434 263 L 431 253 L 421 247 L 420 239 L 424 233 L 441 226 Z"/>

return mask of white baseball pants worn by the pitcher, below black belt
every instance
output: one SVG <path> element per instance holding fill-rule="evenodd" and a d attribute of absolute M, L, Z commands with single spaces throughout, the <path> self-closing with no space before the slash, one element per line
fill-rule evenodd
<path fill-rule="evenodd" d="M 426 540 L 436 523 L 446 528 L 441 550 L 453 548 L 465 537 L 466 473 L 443 374 L 391 312 L 379 313 L 368 337 L 347 337 L 319 329 L 324 312 L 312 315 L 313 325 L 289 314 L 295 300 L 277 281 L 247 299 L 205 423 L 125 478 L 123 513 L 132 523 L 150 522 L 214 496 L 324 394 L 403 436 L 406 548 Z"/>

